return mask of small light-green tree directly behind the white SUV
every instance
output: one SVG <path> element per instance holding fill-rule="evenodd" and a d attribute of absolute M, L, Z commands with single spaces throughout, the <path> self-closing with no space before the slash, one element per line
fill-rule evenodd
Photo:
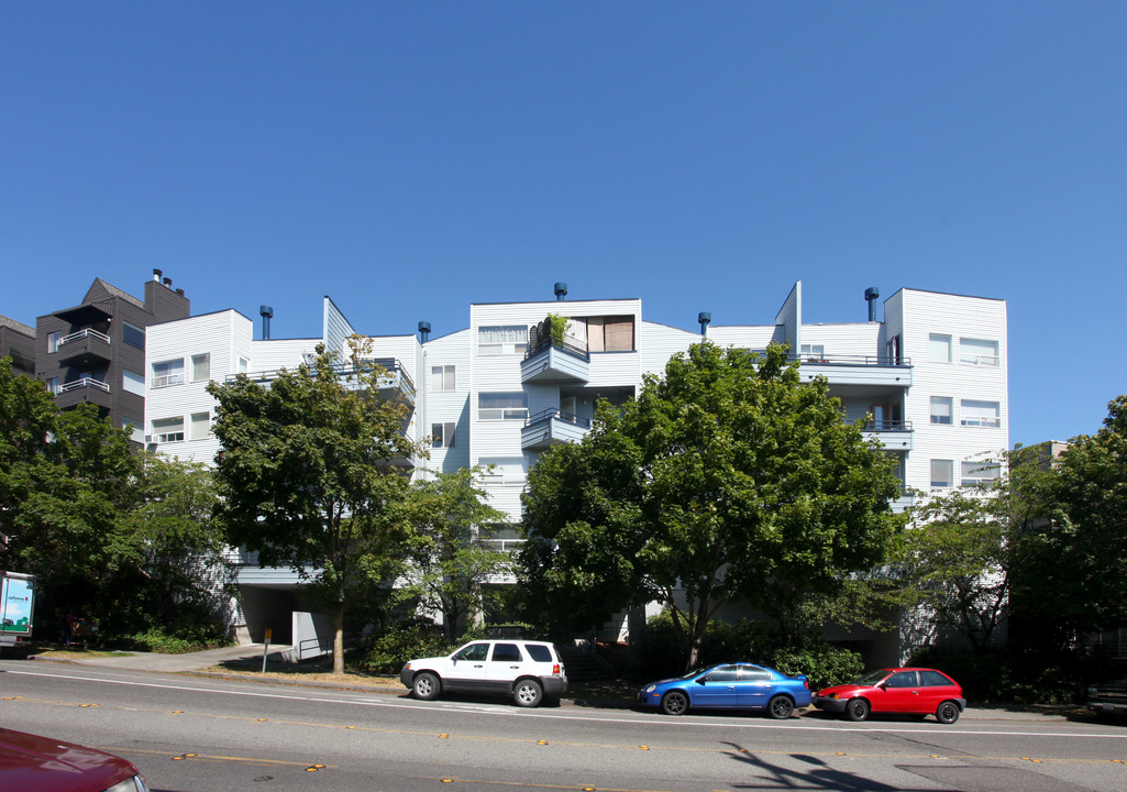
<path fill-rule="evenodd" d="M 447 641 L 482 608 L 486 580 L 507 571 L 508 555 L 491 549 L 490 526 L 506 521 L 486 502 L 480 467 L 415 482 L 410 516 L 418 537 L 409 579 L 420 605 L 441 613 Z"/>

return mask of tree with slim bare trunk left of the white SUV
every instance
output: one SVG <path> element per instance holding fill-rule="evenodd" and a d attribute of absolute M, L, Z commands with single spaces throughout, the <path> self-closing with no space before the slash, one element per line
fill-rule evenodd
<path fill-rule="evenodd" d="M 349 598 L 389 586 L 405 561 L 409 484 L 392 461 L 421 454 L 403 434 L 407 406 L 380 396 L 385 371 L 354 340 L 341 366 L 319 344 L 311 363 L 269 386 L 240 376 L 207 388 L 223 443 L 216 514 L 232 544 L 263 566 L 291 566 L 331 608 L 336 672 Z"/>

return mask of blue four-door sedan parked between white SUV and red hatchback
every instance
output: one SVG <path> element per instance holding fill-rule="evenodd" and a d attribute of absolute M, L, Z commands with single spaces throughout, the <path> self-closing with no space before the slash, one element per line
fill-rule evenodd
<path fill-rule="evenodd" d="M 650 683 L 638 692 L 638 703 L 667 715 L 690 709 L 763 710 L 786 720 L 796 707 L 810 705 L 805 676 L 788 677 L 765 666 L 731 662 L 698 668 L 683 677 Z"/>

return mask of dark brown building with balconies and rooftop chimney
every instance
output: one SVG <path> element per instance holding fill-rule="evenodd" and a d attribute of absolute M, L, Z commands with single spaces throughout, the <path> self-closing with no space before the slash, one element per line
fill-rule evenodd
<path fill-rule="evenodd" d="M 144 285 L 144 301 L 100 278 L 82 302 L 38 317 L 35 372 L 62 410 L 82 403 L 98 406 L 116 426 L 144 440 L 145 327 L 184 319 L 190 302 L 160 270 Z"/>

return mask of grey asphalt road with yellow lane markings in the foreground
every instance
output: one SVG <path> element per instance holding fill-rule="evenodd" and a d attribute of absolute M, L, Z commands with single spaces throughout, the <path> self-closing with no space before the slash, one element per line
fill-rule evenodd
<path fill-rule="evenodd" d="M 0 724 L 124 756 L 163 792 L 1127 789 L 1127 727 L 1036 716 L 530 711 L 0 661 Z"/>

